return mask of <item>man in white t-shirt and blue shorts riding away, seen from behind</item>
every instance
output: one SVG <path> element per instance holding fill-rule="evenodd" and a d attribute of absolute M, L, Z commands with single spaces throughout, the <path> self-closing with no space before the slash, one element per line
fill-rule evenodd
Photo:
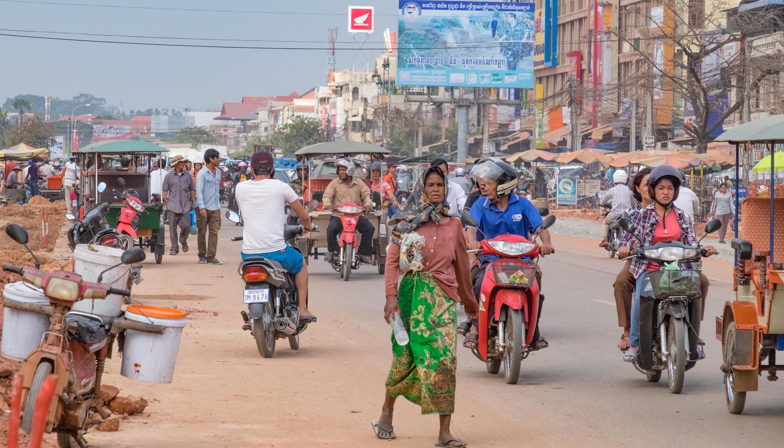
<path fill-rule="evenodd" d="M 299 216 L 302 226 L 308 231 L 313 230 L 313 222 L 307 215 L 299 197 L 292 187 L 285 182 L 274 179 L 274 158 L 267 151 L 254 153 L 250 159 L 253 172 L 256 174 L 250 182 L 237 185 L 235 200 L 237 201 L 245 227 L 242 229 L 243 259 L 264 257 L 280 262 L 284 269 L 294 274 L 297 294 L 299 295 L 299 317 L 315 316 L 307 309 L 307 266 L 304 258 L 294 247 L 286 244 L 283 229 L 286 223 L 285 204 Z"/>

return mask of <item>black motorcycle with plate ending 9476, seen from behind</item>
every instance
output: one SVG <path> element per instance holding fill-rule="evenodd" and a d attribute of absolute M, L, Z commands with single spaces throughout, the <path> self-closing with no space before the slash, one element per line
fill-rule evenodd
<path fill-rule="evenodd" d="M 226 217 L 231 222 L 240 222 L 236 211 L 227 211 Z M 302 235 L 303 231 L 300 225 L 285 226 L 283 237 L 289 242 Z M 242 237 L 231 240 L 241 241 Z M 292 247 L 296 248 L 296 245 Z M 275 353 L 275 341 L 281 338 L 289 339 L 291 349 L 298 350 L 299 334 L 305 331 L 311 320 L 299 319 L 299 296 L 294 274 L 285 270 L 279 262 L 263 257 L 245 258 L 240 263 L 239 273 L 245 280 L 242 302 L 248 305 L 247 312 L 241 311 L 242 329 L 249 330 L 256 339 L 261 356 L 271 358 Z"/>

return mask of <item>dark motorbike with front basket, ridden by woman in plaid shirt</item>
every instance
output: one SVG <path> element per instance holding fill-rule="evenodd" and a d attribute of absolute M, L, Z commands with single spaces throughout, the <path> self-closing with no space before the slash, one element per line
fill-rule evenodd
<path fill-rule="evenodd" d="M 619 224 L 628 233 L 636 230 L 627 217 L 621 218 Z M 705 226 L 706 235 L 720 227 L 718 219 L 711 220 Z M 667 269 L 664 263 L 699 262 L 705 251 L 699 242 L 691 247 L 680 241 L 665 241 L 638 247 L 632 254 L 624 260 L 638 258 L 659 265 L 658 269 L 642 274 L 646 279 L 640 294 L 640 352 L 634 367 L 651 382 L 658 382 L 666 368 L 670 392 L 681 393 L 686 370 L 705 357 L 698 344 L 701 273 Z"/>

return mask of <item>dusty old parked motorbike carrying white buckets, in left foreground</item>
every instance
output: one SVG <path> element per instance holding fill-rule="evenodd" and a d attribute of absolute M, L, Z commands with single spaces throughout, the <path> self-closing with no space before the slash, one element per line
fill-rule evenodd
<path fill-rule="evenodd" d="M 9 224 L 5 233 L 19 244 L 23 244 L 27 251 L 27 232 L 16 224 Z M 122 262 L 116 266 L 105 269 L 103 273 L 121 266 L 143 261 L 144 251 L 131 249 L 122 254 Z M 22 280 L 34 287 L 40 287 L 51 307 L 43 306 L 41 312 L 50 313 L 51 324 L 49 330 L 43 335 L 38 349 L 27 356 L 22 363 L 22 422 L 24 432 L 28 434 L 34 420 L 34 407 L 38 393 L 49 374 L 56 376 L 53 403 L 49 406 L 46 417 L 46 432 L 57 432 L 57 442 L 62 448 L 71 446 L 86 446 L 83 435 L 92 425 L 98 425 L 103 420 L 94 419 L 97 413 L 102 418 L 107 418 L 103 410 L 103 399 L 100 398 L 101 377 L 105 359 L 111 357 L 111 345 L 115 335 L 123 328 L 122 317 L 107 317 L 88 313 L 72 312 L 74 303 L 82 299 L 103 299 L 108 294 L 130 295 L 125 291 L 108 284 L 100 283 L 103 273 L 98 277 L 97 283 L 82 280 L 82 276 L 66 271 L 44 272 L 39 268 L 38 259 L 35 258 L 35 267 L 2 266 L 2 269 L 22 276 Z M 10 305 L 10 304 L 8 304 Z M 133 323 L 132 327 L 141 331 L 160 333 L 165 327 L 147 323 Z"/>

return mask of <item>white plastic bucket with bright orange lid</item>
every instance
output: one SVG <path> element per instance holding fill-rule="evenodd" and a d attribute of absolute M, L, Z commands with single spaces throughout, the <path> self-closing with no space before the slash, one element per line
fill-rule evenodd
<path fill-rule="evenodd" d="M 180 309 L 148 305 L 131 305 L 125 318 L 144 323 L 163 325 L 162 334 L 125 330 L 125 348 L 122 350 L 120 374 L 125 378 L 151 383 L 170 383 L 180 351 L 180 338 L 187 313 Z"/>

